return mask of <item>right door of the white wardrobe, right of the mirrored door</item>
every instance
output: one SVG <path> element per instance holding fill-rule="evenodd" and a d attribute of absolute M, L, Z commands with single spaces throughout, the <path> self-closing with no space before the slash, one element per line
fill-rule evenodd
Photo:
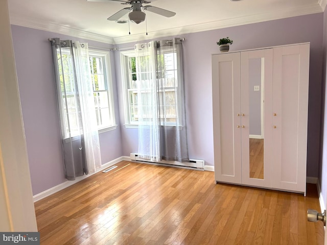
<path fill-rule="evenodd" d="M 273 188 L 306 192 L 309 44 L 273 48 Z"/>

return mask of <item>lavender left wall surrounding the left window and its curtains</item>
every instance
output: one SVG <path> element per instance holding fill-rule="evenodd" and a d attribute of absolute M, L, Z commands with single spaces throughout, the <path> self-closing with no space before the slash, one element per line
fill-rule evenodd
<path fill-rule="evenodd" d="M 87 41 L 31 28 L 11 26 L 33 195 L 66 181 L 60 140 L 52 50 L 49 37 Z M 114 57 L 111 68 L 115 80 Z M 115 94 L 116 122 L 119 123 Z M 122 156 L 120 128 L 100 134 L 102 164 Z"/>

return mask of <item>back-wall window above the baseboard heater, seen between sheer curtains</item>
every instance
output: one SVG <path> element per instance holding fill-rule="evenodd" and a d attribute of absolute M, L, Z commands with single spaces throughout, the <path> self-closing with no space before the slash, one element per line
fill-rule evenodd
<path fill-rule="evenodd" d="M 144 62 L 147 62 L 147 57 L 144 57 Z M 125 118 L 126 124 L 138 125 L 138 96 L 141 99 L 146 100 L 146 97 L 150 95 L 149 91 L 143 89 L 137 90 L 137 79 L 142 80 L 145 77 L 143 72 L 137 73 L 136 71 L 136 59 L 134 51 L 121 52 L 121 66 L 122 77 L 125 81 Z M 160 84 L 159 88 L 159 101 L 160 101 L 160 120 L 164 120 L 165 124 L 174 122 L 176 124 L 177 116 L 176 100 L 178 100 L 178 87 L 177 82 L 177 55 L 171 50 L 167 50 L 163 54 L 158 55 L 158 71 L 157 79 Z M 144 82 L 144 81 L 143 81 Z M 176 99 L 177 98 L 177 99 Z M 147 115 L 149 118 L 152 115 Z M 144 119 L 143 119 L 144 121 Z M 179 124 L 180 125 L 180 124 Z"/>

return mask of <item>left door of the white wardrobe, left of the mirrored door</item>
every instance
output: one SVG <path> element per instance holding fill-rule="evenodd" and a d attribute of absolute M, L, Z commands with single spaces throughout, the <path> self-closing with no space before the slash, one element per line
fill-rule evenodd
<path fill-rule="evenodd" d="M 241 184 L 240 53 L 212 56 L 216 181 Z"/>

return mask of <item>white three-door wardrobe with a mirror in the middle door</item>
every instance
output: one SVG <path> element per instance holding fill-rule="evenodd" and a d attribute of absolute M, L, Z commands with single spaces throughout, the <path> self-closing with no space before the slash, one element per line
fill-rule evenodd
<path fill-rule="evenodd" d="M 306 194 L 309 50 L 212 55 L 217 183 Z"/>

